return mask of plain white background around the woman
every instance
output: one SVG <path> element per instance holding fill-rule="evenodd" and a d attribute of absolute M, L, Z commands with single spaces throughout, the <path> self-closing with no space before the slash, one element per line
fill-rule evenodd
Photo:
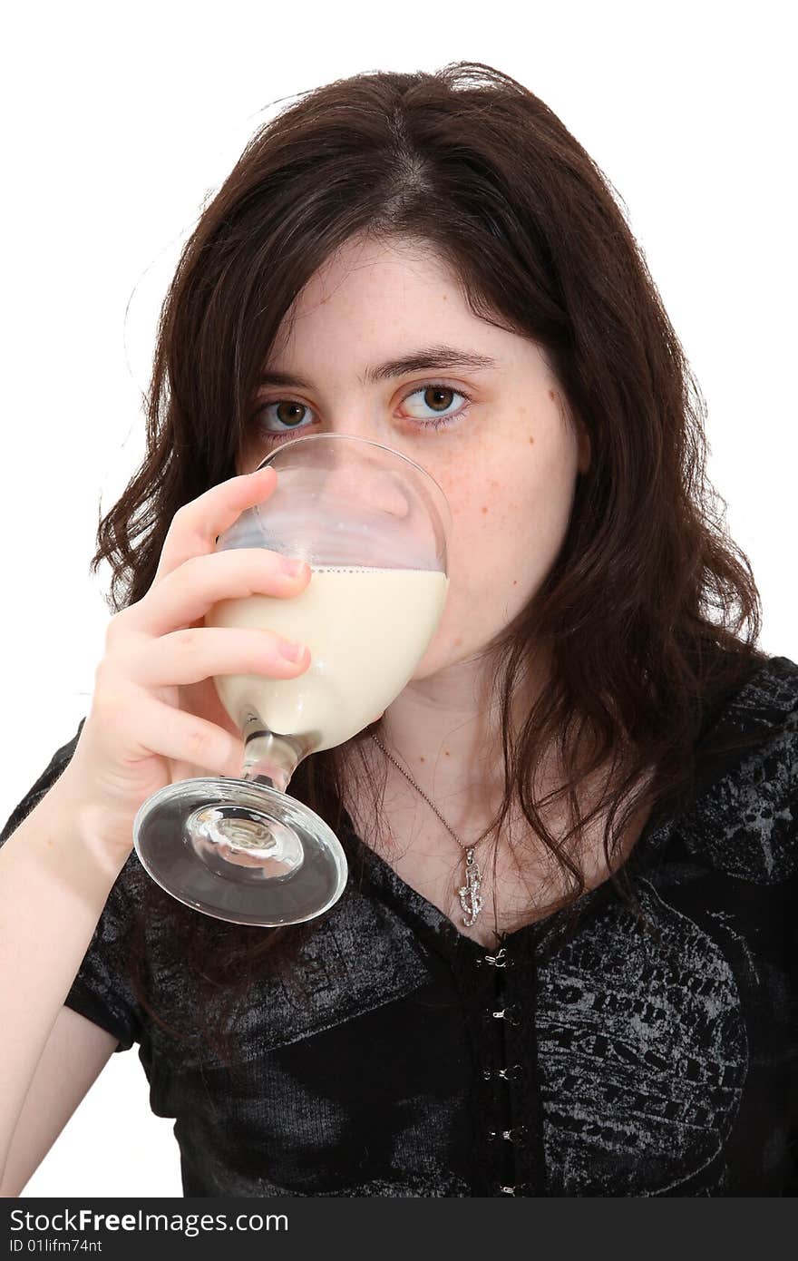
<path fill-rule="evenodd" d="M 0 87 L 3 822 L 88 709 L 110 617 L 108 570 L 92 579 L 88 561 L 100 508 L 144 454 L 179 246 L 272 102 L 361 71 L 493 64 L 604 169 L 707 400 L 710 478 L 761 591 L 763 647 L 798 660 L 790 8 L 15 6 Z M 149 1111 L 136 1050 L 116 1054 L 24 1194 L 180 1195 L 171 1125 Z"/>

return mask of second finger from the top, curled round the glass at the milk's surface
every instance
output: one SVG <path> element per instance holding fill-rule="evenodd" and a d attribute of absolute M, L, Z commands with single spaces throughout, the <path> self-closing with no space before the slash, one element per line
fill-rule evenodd
<path fill-rule="evenodd" d="M 310 566 L 294 578 L 282 567 L 289 559 L 266 547 L 192 556 L 125 609 L 125 629 L 158 637 L 199 622 L 218 600 L 298 595 L 310 581 Z"/>

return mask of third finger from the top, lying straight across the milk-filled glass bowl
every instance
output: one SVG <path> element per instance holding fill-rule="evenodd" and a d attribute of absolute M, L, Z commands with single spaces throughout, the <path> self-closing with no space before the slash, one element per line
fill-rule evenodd
<path fill-rule="evenodd" d="M 300 648 L 290 660 L 282 647 Z M 146 639 L 127 668 L 127 677 L 140 687 L 171 687 L 199 683 L 216 675 L 265 675 L 295 678 L 308 666 L 306 644 L 292 644 L 274 630 L 199 627 Z"/>

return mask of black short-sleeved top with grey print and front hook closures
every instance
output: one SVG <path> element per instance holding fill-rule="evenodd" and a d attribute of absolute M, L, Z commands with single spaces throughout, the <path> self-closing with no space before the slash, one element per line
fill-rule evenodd
<path fill-rule="evenodd" d="M 241 1079 L 122 980 L 149 880 L 134 851 L 66 1001 L 117 1050 L 139 1043 L 184 1194 L 795 1195 L 798 665 L 758 667 L 722 726 L 760 739 L 700 759 L 698 791 L 658 807 L 628 859 L 653 934 L 606 881 L 575 929 L 555 914 L 492 952 L 354 837 L 362 888 L 315 922 L 299 992 L 252 991 Z M 155 1009 L 184 1019 L 180 976 L 156 985 Z"/>

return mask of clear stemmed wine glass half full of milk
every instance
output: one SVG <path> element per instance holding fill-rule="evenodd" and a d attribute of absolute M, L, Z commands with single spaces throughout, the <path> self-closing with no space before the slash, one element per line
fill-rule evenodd
<path fill-rule="evenodd" d="M 435 479 L 379 443 L 313 434 L 258 468 L 274 492 L 217 538 L 308 561 L 294 596 L 219 600 L 204 624 L 275 630 L 310 649 L 295 678 L 217 675 L 242 733 L 241 778 L 207 776 L 153 793 L 134 822 L 147 874 L 185 905 L 237 924 L 321 915 L 347 883 L 340 841 L 286 792 L 299 763 L 352 739 L 398 696 L 440 622 L 451 513 Z"/>

